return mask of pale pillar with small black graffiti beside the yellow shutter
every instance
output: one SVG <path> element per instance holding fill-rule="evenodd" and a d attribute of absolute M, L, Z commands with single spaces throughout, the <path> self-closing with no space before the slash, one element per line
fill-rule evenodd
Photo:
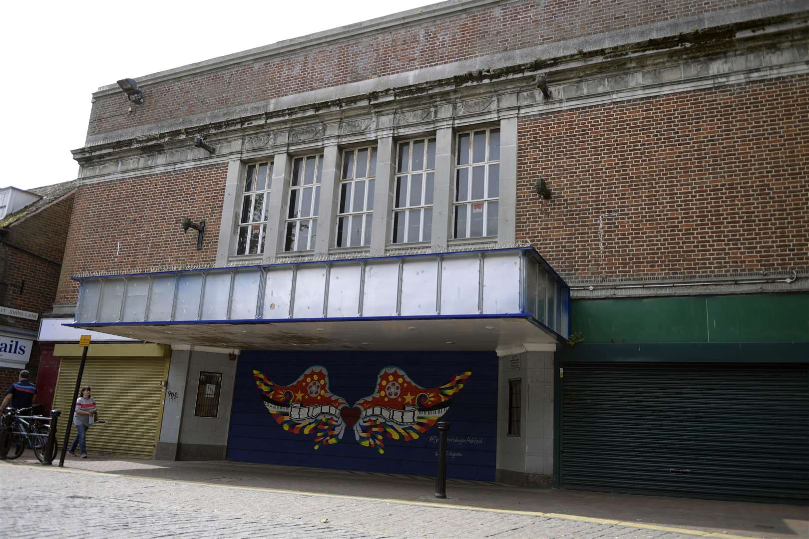
<path fill-rule="evenodd" d="M 160 438 L 155 450 L 155 459 L 159 461 L 177 460 L 190 361 L 191 352 L 189 350 L 172 350 L 166 396 L 163 402 L 163 423 L 160 426 Z"/>

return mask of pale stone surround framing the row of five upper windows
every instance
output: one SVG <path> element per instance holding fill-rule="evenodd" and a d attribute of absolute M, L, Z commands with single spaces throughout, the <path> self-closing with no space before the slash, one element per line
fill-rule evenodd
<path fill-rule="evenodd" d="M 477 116 L 477 115 L 476 115 Z M 217 265 L 227 263 L 254 263 L 260 260 L 300 256 L 301 253 L 283 251 L 286 204 L 290 189 L 290 175 L 294 158 L 312 152 L 322 152 L 324 156 L 323 175 L 318 218 L 318 234 L 316 245 L 311 256 L 338 255 L 340 253 L 368 253 L 371 255 L 393 255 L 401 249 L 422 247 L 434 251 L 446 251 L 451 246 L 466 245 L 479 242 L 506 245 L 515 242 L 516 213 L 516 175 L 517 175 L 517 118 L 495 118 L 481 120 L 478 123 L 447 122 L 449 125 L 433 123 L 434 128 L 421 126 L 413 129 L 396 128 L 376 129 L 376 133 L 358 133 L 354 137 L 322 137 L 323 128 L 313 128 L 318 135 L 316 140 L 284 148 L 265 148 L 264 151 L 252 152 L 239 160 L 228 162 L 225 200 L 222 208 L 222 230 L 218 246 Z M 398 118 L 397 118 L 398 120 Z M 419 119 L 422 120 L 422 119 Z M 397 122 L 398 123 L 398 122 Z M 422 124 L 422 122 L 414 122 Z M 452 125 L 452 124 L 455 125 Z M 500 213 L 498 217 L 498 235 L 486 238 L 453 239 L 451 218 L 454 194 L 455 175 L 455 142 L 457 133 L 467 132 L 474 128 L 500 128 Z M 415 130 L 417 129 L 417 130 Z M 364 130 L 363 130 L 364 131 Z M 350 135 L 350 134 L 349 134 Z M 375 135 L 375 137 L 374 137 Z M 393 196 L 396 179 L 396 146 L 397 142 L 408 140 L 414 136 L 424 135 L 436 138 L 435 179 L 433 193 L 433 234 L 430 242 L 394 244 L 390 241 L 392 229 Z M 293 137 L 290 137 L 290 139 Z M 347 139 L 347 140 L 344 140 Z M 351 140 L 353 139 L 353 140 Z M 290 140 L 291 142 L 291 140 Z M 341 159 L 343 150 L 363 146 L 377 146 L 377 166 L 374 195 L 373 225 L 371 228 L 371 245 L 365 247 L 335 247 L 337 232 L 337 204 L 341 181 Z M 233 216 L 239 213 L 235 204 L 241 200 L 244 190 L 244 174 L 247 166 L 254 162 L 274 162 L 271 196 L 269 201 L 269 222 L 265 240 L 265 251 L 259 255 L 235 255 L 237 230 L 233 225 Z M 277 188 L 276 186 L 282 186 Z M 329 196 L 330 195 L 330 196 Z"/>

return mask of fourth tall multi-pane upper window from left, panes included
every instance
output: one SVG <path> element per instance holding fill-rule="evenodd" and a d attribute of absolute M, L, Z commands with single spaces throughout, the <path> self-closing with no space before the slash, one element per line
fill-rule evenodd
<path fill-rule="evenodd" d="M 433 232 L 435 139 L 400 142 L 397 150 L 392 242 L 429 242 Z"/>

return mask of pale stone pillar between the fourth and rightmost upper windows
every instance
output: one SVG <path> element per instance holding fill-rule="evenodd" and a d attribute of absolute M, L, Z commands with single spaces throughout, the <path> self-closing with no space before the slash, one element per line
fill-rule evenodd
<path fill-rule="evenodd" d="M 435 181 L 433 183 L 433 239 L 434 249 L 447 250 L 452 238 L 452 202 L 455 200 L 455 152 L 451 127 L 439 128 L 435 133 Z"/>

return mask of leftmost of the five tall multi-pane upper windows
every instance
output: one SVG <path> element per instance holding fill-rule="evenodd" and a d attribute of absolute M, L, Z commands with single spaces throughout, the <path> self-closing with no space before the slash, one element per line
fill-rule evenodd
<path fill-rule="evenodd" d="M 260 255 L 264 251 L 269 215 L 269 182 L 272 178 L 273 162 L 248 165 L 236 255 Z"/>

